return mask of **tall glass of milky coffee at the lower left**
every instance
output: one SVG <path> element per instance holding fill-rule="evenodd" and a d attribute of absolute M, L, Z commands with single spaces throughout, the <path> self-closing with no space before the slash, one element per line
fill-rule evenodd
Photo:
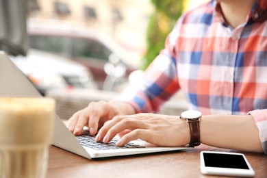
<path fill-rule="evenodd" d="M 46 177 L 55 100 L 0 98 L 0 177 Z"/>

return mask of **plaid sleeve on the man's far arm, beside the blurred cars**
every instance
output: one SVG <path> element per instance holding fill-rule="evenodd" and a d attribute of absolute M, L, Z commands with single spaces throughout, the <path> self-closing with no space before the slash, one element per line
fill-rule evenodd
<path fill-rule="evenodd" d="M 166 38 L 165 49 L 144 71 L 144 77 L 140 83 L 129 86 L 118 97 L 118 100 L 127 101 L 133 105 L 136 113 L 159 112 L 163 103 L 179 90 L 175 59 L 175 39 L 177 39 L 179 23 L 177 25 Z"/>

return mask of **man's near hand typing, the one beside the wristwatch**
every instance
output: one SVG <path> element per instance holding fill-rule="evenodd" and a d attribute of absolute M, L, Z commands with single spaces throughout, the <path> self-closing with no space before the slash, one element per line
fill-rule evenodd
<path fill-rule="evenodd" d="M 118 147 L 138 138 L 151 144 L 170 147 L 190 142 L 188 123 L 179 119 L 179 116 L 160 114 L 116 116 L 103 125 L 96 140 L 110 142 L 117 133 L 122 132 L 123 136 L 116 143 Z"/>

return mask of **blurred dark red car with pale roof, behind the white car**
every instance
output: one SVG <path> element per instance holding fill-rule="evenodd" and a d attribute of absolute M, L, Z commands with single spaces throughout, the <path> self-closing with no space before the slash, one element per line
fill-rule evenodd
<path fill-rule="evenodd" d="M 127 79 L 129 73 L 137 69 L 129 63 L 125 51 L 116 42 L 89 29 L 72 27 L 60 21 L 38 23 L 31 20 L 28 23 L 28 34 L 31 48 L 63 55 L 86 66 L 99 89 L 103 89 L 103 86 L 104 89 L 108 88 L 110 83 L 123 78 Z M 112 64 L 113 68 L 107 63 Z"/>

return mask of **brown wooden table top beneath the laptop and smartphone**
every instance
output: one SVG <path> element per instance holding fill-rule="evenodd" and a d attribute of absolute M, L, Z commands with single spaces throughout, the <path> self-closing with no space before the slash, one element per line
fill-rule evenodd
<path fill-rule="evenodd" d="M 87 160 L 51 146 L 47 177 L 215 177 L 201 175 L 199 153 L 203 150 L 237 152 L 201 144 L 184 151 Z M 267 177 L 267 155 L 244 154 L 255 170 L 255 177 Z"/>

